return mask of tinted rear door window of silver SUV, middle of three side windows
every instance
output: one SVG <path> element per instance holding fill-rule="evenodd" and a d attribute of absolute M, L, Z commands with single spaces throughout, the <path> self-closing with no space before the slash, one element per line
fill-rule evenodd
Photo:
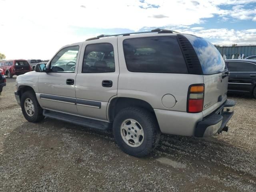
<path fill-rule="evenodd" d="M 112 44 L 87 45 L 84 52 L 82 73 L 115 72 L 114 48 Z"/>

